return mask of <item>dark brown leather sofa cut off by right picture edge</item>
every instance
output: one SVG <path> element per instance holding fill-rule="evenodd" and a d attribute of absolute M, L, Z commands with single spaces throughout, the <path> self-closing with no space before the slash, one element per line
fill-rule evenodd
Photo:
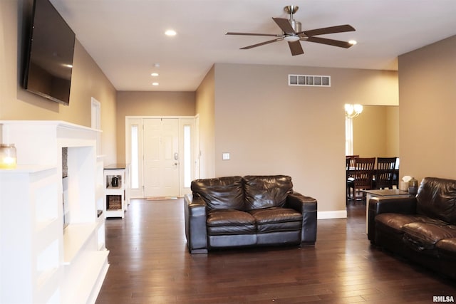
<path fill-rule="evenodd" d="M 374 197 L 368 208 L 371 243 L 456 278 L 456 180 L 426 177 L 416 196 Z"/>

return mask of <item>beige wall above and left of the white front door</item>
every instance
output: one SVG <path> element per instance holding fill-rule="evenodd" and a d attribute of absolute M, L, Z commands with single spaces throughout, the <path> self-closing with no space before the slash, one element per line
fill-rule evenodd
<path fill-rule="evenodd" d="M 117 93 L 118 162 L 125 162 L 125 116 L 194 116 L 195 92 L 136 92 Z"/>

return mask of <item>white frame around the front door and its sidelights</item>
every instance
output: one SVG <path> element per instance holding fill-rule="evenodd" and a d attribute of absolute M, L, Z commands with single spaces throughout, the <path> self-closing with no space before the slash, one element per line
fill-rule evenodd
<path fill-rule="evenodd" d="M 143 164 L 143 120 L 145 119 L 177 119 L 179 120 L 179 154 L 181 161 L 179 162 L 179 196 L 184 196 L 184 194 L 190 193 L 190 184 L 185 184 L 185 174 L 184 174 L 184 126 L 190 125 L 190 178 L 197 178 L 197 173 L 199 172 L 199 165 L 197 159 L 197 150 L 199 147 L 198 143 L 198 130 L 195 120 L 197 116 L 125 116 L 125 162 L 130 165 L 132 163 L 132 151 L 131 151 L 131 128 L 133 125 L 138 127 L 138 188 L 130 189 L 131 197 L 144 198 L 144 164 Z M 130 168 L 130 179 L 132 179 L 132 174 L 135 173 L 133 168 Z M 132 183 L 130 182 L 130 185 Z"/>

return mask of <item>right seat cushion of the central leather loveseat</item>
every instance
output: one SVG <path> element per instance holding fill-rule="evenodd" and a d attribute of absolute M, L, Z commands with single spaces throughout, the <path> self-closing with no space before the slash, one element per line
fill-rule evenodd
<path fill-rule="evenodd" d="M 273 231 L 291 231 L 302 228 L 302 214 L 294 209 L 271 207 L 249 211 L 257 221 L 259 234 Z"/>

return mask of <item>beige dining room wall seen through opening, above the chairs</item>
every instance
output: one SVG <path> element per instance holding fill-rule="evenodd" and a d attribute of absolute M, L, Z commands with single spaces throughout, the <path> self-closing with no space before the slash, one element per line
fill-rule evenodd
<path fill-rule="evenodd" d="M 353 154 L 399 157 L 399 107 L 367 105 L 353 118 Z"/>

